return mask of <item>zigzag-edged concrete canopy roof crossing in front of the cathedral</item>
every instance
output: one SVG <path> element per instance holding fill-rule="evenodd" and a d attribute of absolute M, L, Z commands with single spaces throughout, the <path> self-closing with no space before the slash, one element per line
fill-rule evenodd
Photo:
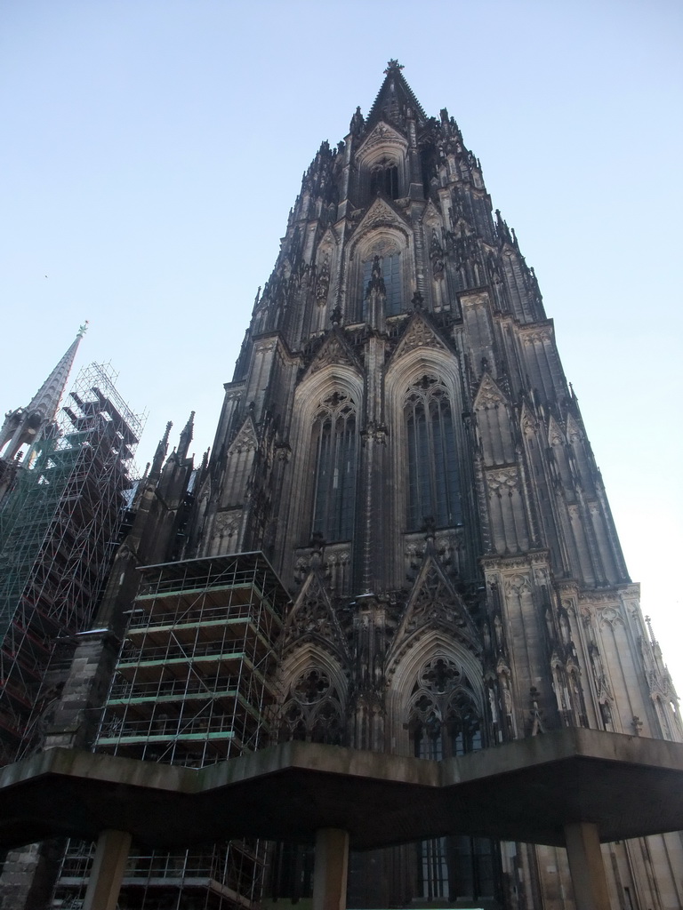
<path fill-rule="evenodd" d="M 0 845 L 127 831 L 170 848 L 238 836 L 355 849 L 443 834 L 565 844 L 683 828 L 683 743 L 572 728 L 443 762 L 283 743 L 200 770 L 53 749 L 0 772 Z"/>

